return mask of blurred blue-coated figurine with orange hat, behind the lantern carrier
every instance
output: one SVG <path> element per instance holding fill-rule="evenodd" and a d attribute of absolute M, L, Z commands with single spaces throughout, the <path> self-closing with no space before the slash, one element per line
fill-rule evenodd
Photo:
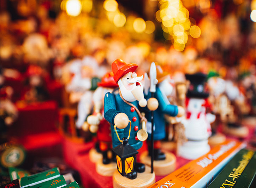
<path fill-rule="evenodd" d="M 150 70 L 151 71 L 151 70 Z M 158 84 L 156 86 L 155 98 L 159 102 L 158 108 L 154 111 L 154 171 L 156 175 L 167 175 L 170 174 L 176 168 L 176 157 L 174 154 L 169 153 L 167 151 L 161 151 L 161 140 L 163 140 L 166 136 L 165 132 L 165 118 L 164 115 L 167 114 L 169 116 L 183 116 L 185 111 L 182 106 L 176 106 L 170 104 L 168 101 L 168 96 L 171 95 L 173 86 L 171 83 L 171 77 L 168 73 L 163 72 L 162 68 L 157 65 L 156 66 L 156 76 L 158 80 Z M 150 78 L 151 79 L 151 78 Z M 151 93 L 145 95 L 145 98 L 150 98 Z M 151 116 L 150 113 L 147 113 L 147 132 L 148 132 L 148 141 L 151 141 Z M 148 142 L 149 145 L 149 152 L 142 153 L 140 160 L 145 164 L 150 164 L 150 157 L 147 156 L 148 154 L 151 155 L 152 147 L 151 143 Z M 165 168 L 163 168 L 165 166 Z"/>

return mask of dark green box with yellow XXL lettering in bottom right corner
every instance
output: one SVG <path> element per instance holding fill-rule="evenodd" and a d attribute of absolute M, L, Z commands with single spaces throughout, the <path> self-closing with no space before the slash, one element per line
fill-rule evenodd
<path fill-rule="evenodd" d="M 256 153 L 240 150 L 207 188 L 249 188 L 256 175 Z"/>

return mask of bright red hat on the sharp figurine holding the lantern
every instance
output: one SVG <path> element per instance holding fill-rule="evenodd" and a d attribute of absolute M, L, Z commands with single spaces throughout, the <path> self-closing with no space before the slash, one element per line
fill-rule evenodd
<path fill-rule="evenodd" d="M 116 59 L 112 63 L 112 71 L 114 73 L 115 82 L 117 83 L 118 80 L 128 72 L 134 72 L 137 67 L 138 65 L 135 63 L 126 64 L 123 60 Z"/>

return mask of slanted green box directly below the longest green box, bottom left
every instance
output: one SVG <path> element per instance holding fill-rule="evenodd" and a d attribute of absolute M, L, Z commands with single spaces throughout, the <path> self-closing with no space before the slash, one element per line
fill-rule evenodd
<path fill-rule="evenodd" d="M 38 183 L 34 186 L 30 186 L 30 188 L 58 188 L 66 186 L 66 181 L 63 176 L 59 176 L 57 178 L 54 178 L 52 180 L 48 180 L 43 183 Z"/>

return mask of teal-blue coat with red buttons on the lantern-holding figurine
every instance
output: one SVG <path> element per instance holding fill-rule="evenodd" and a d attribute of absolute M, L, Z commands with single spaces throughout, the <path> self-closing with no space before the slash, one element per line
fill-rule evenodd
<path fill-rule="evenodd" d="M 134 104 L 137 108 L 139 106 L 138 101 L 131 102 Z M 134 109 L 134 108 L 133 108 Z M 140 128 L 140 118 L 136 110 L 133 110 L 130 105 L 126 104 L 123 99 L 121 99 L 118 90 L 114 91 L 113 93 L 106 93 L 104 98 L 104 117 L 105 119 L 111 123 L 111 134 L 112 134 L 112 145 L 113 148 L 117 147 L 120 144 L 120 141 L 118 140 L 117 134 L 114 130 L 114 118 L 115 116 L 123 112 L 125 113 L 129 120 L 132 122 L 131 125 L 131 135 L 129 138 L 129 144 L 135 148 L 139 149 L 142 147 L 142 142 L 135 139 L 135 136 Z M 117 132 L 122 140 L 123 137 L 129 136 L 129 129 L 130 129 L 130 122 L 128 123 L 127 127 L 124 129 L 118 129 Z"/>

